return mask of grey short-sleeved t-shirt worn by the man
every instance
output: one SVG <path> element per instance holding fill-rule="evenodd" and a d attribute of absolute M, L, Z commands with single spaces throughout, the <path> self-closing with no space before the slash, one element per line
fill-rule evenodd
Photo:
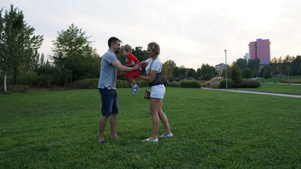
<path fill-rule="evenodd" d="M 116 54 L 109 49 L 106 54 L 102 56 L 97 88 L 104 89 L 104 87 L 108 87 L 111 89 L 116 89 L 117 68 L 111 65 L 111 63 L 114 61 L 118 61 Z"/>

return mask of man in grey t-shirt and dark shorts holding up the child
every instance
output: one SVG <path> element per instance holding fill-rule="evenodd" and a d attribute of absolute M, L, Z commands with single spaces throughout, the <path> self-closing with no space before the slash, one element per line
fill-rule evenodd
<path fill-rule="evenodd" d="M 118 139 L 116 133 L 117 115 L 118 115 L 118 99 L 116 93 L 117 75 L 122 75 L 140 68 L 140 65 L 134 67 L 126 67 L 122 65 L 117 57 L 121 46 L 121 41 L 116 37 L 111 37 L 108 41 L 109 50 L 102 56 L 101 69 L 99 75 L 98 89 L 102 96 L 102 117 L 99 120 L 99 138 L 98 142 L 104 142 L 104 129 L 106 121 L 110 116 L 111 138 Z"/>

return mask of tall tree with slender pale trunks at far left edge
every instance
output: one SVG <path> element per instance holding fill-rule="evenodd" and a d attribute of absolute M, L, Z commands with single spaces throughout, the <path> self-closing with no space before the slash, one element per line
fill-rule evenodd
<path fill-rule="evenodd" d="M 2 10 L 1 10 L 2 13 Z M 4 70 L 4 92 L 6 93 L 6 75 L 10 84 L 11 69 L 13 69 L 14 84 L 17 83 L 17 72 L 26 68 L 32 62 L 35 51 L 39 49 L 43 36 L 33 35 L 35 29 L 24 21 L 23 11 L 11 8 L 5 11 L 4 18 L 1 14 L 1 69 Z M 28 67 L 28 66 L 27 66 Z"/>

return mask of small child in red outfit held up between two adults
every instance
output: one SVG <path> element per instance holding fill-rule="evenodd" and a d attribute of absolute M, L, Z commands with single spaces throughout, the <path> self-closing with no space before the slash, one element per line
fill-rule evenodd
<path fill-rule="evenodd" d="M 121 52 L 123 54 L 123 56 L 125 56 L 125 66 L 128 67 L 133 67 L 135 66 L 137 63 L 139 63 L 138 59 L 132 54 L 132 46 L 125 44 L 125 46 L 123 46 L 121 48 Z M 128 80 L 128 82 L 130 83 L 130 85 L 132 86 L 132 94 L 137 94 L 139 87 L 136 84 L 136 80 L 138 76 L 142 75 L 142 69 L 138 69 L 138 70 L 134 70 L 131 71 L 130 73 L 125 74 L 125 78 L 126 80 Z"/>

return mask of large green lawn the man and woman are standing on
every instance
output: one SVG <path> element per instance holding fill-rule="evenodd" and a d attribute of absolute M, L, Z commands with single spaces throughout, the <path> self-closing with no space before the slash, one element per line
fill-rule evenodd
<path fill-rule="evenodd" d="M 174 138 L 154 143 L 145 89 L 117 90 L 121 139 L 108 124 L 106 145 L 96 89 L 0 95 L 0 168 L 301 168 L 300 99 L 168 87 Z"/>

